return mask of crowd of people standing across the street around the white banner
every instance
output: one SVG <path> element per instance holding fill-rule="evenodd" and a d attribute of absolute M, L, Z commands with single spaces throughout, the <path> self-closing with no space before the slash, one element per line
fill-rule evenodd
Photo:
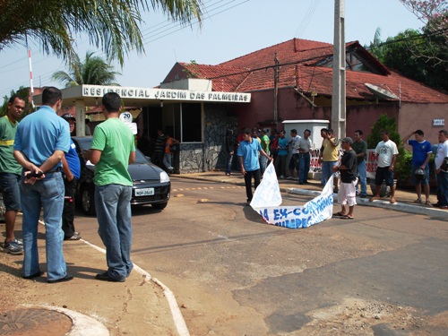
<path fill-rule="evenodd" d="M 353 218 L 353 209 L 356 197 L 367 197 L 366 158 L 367 144 L 363 139 L 363 131 L 356 130 L 353 138 L 336 139 L 332 129 L 323 128 L 321 136 L 323 142 L 319 151 L 318 162 L 322 165 L 321 185 L 325 185 L 333 176 L 333 192 L 338 194 L 338 202 L 342 206 L 337 215 L 344 219 Z M 415 140 L 409 140 L 411 135 Z M 231 175 L 234 153 L 237 153 L 237 170 L 245 176 L 247 203 L 252 200 L 252 178 L 254 187 L 263 178 L 267 165 L 274 165 L 279 179 L 298 180 L 298 184 L 307 183 L 310 169 L 310 151 L 313 143 L 309 138 L 311 131 L 306 129 L 303 137 L 297 134 L 296 129 L 290 131 L 289 140 L 285 131 L 242 129 L 234 141 L 232 129 L 226 134 L 226 151 L 228 153 L 226 175 Z M 393 179 L 395 163 L 399 155 L 398 147 L 390 139 L 388 130 L 381 133 L 382 141 L 376 145 L 374 155 L 378 160 L 375 171 L 375 192 L 369 201 L 374 202 L 381 198 L 382 185 L 390 189 L 390 202 L 396 203 L 395 183 Z M 415 185 L 417 194 L 416 203 L 448 209 L 448 135 L 446 130 L 438 133 L 439 143 L 434 147 L 424 138 L 422 130 L 412 131 L 403 138 L 403 144 L 412 147 L 411 183 Z M 342 150 L 342 153 L 340 153 Z M 429 159 L 435 155 L 435 177 L 437 182 L 437 202 L 432 204 L 429 200 Z M 287 159 L 289 162 L 287 162 Z M 289 169 L 289 177 L 287 176 Z M 335 174 L 337 172 L 337 174 Z M 341 189 L 340 189 L 341 188 Z M 422 199 L 422 193 L 425 200 Z M 345 208 L 349 205 L 349 209 Z"/>

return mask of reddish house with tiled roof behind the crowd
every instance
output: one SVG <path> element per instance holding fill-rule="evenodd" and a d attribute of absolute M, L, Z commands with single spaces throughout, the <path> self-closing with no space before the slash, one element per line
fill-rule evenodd
<path fill-rule="evenodd" d="M 238 129 L 281 129 L 284 120 L 331 120 L 332 54 L 332 44 L 290 39 L 220 65 L 177 63 L 161 85 L 200 78 L 211 80 L 213 91 L 251 93 L 250 104 L 228 108 L 237 116 Z M 348 135 L 358 128 L 368 135 L 386 113 L 397 118 L 400 134 L 421 128 L 429 141 L 437 140 L 448 116 L 447 94 L 386 68 L 358 41 L 346 44 L 346 54 Z"/>

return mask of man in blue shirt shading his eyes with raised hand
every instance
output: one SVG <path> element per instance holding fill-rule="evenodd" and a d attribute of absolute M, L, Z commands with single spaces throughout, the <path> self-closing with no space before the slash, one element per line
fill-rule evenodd
<path fill-rule="evenodd" d="M 414 134 L 415 140 L 409 140 L 410 136 Z M 431 205 L 429 202 L 429 159 L 433 152 L 433 146 L 430 142 L 425 140 L 425 134 L 422 130 L 412 131 L 403 139 L 403 144 L 408 143 L 412 146 L 412 163 L 410 164 L 410 182 L 416 186 L 417 200 L 414 202 L 422 203 L 421 199 L 421 185 L 425 192 L 425 204 Z M 415 171 L 421 168 L 425 171 L 422 179 L 418 179 Z"/>

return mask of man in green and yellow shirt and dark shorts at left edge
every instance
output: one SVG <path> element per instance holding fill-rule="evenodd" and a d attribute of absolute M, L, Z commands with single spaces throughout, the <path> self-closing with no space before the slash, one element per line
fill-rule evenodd
<path fill-rule="evenodd" d="M 6 238 L 3 251 L 7 254 L 23 254 L 23 243 L 14 236 L 14 225 L 17 212 L 21 210 L 19 182 L 22 166 L 15 160 L 13 146 L 15 132 L 25 108 L 25 100 L 13 95 L 8 101 L 6 116 L 0 118 L 0 188 L 2 189 Z"/>

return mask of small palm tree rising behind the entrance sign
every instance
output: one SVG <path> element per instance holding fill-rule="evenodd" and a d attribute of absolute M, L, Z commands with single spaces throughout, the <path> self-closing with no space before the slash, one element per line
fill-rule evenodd
<path fill-rule="evenodd" d="M 76 55 L 73 61 L 69 62 L 69 73 L 57 71 L 51 76 L 52 80 L 65 83 L 65 88 L 76 85 L 118 85 L 116 81 L 117 73 L 112 65 L 99 56 L 93 56 L 93 52 L 87 52 L 84 62 Z"/>

